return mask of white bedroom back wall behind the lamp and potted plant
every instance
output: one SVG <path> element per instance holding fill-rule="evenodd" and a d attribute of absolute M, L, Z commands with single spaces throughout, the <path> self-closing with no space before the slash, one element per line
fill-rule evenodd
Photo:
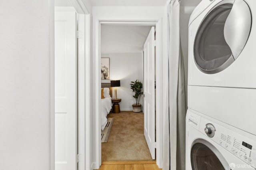
<path fill-rule="evenodd" d="M 134 92 L 130 89 L 130 82 L 136 79 L 143 82 L 142 53 L 109 53 L 102 54 L 101 57 L 110 58 L 110 80 L 120 80 L 120 87 L 117 87 L 117 98 L 122 99 L 119 103 L 120 110 L 132 111 L 135 99 L 132 97 Z M 110 83 L 110 80 L 101 80 L 101 82 Z M 140 103 L 142 102 L 141 98 Z"/>

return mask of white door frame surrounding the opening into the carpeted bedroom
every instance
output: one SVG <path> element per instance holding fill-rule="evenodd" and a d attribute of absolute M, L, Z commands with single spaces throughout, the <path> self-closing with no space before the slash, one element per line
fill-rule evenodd
<path fill-rule="evenodd" d="M 112 24 L 112 25 L 122 25 L 122 26 L 155 26 L 156 28 L 156 34 L 162 35 L 160 34 L 160 28 L 161 28 L 161 24 L 159 23 L 158 20 L 156 21 L 101 21 L 99 20 L 99 25 L 98 25 L 98 29 L 96 29 L 96 53 L 94 54 L 94 62 L 96 63 L 96 65 L 94 65 L 94 77 L 96 79 L 95 82 L 95 98 L 96 98 L 96 102 L 95 102 L 95 115 L 94 118 L 96 120 L 96 125 L 95 125 L 95 148 L 96 148 L 96 162 L 95 162 L 95 169 L 98 168 L 97 165 L 101 164 L 101 141 L 100 141 L 100 133 L 101 133 L 101 129 L 100 129 L 100 113 L 101 113 L 101 109 L 100 109 L 100 30 L 102 29 L 102 26 L 106 25 L 106 24 Z M 96 24 L 97 25 L 97 24 Z M 95 30 L 95 29 L 94 29 Z M 98 38 L 97 38 L 98 37 Z M 161 44 L 161 36 L 156 37 L 156 44 L 159 45 Z M 98 40 L 98 41 L 97 41 Z M 162 75 L 161 75 L 161 70 L 162 70 L 162 66 L 160 63 L 162 63 L 161 57 L 160 56 L 161 53 L 161 48 L 156 48 L 156 81 L 161 80 L 162 81 Z M 159 82 L 161 82 L 159 81 Z M 160 94 L 162 94 L 162 89 L 160 88 L 160 86 L 156 85 L 156 140 L 158 142 L 154 143 L 154 147 L 157 148 L 156 150 L 156 162 L 159 166 L 161 166 L 161 162 L 158 162 L 160 160 L 162 160 L 162 130 L 161 130 L 161 108 L 160 105 L 162 105 L 161 101 L 161 97 Z"/>

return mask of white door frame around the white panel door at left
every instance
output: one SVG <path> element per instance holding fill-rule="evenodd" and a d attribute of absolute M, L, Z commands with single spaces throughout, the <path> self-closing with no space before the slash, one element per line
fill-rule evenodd
<path fill-rule="evenodd" d="M 75 8 L 78 16 L 77 29 L 80 30 L 80 37 L 78 39 L 78 51 L 77 51 L 77 162 L 79 170 L 90 170 L 91 169 L 91 129 L 90 129 L 90 112 L 91 112 L 91 44 L 92 44 L 92 14 L 87 10 L 86 5 L 82 0 L 69 0 L 72 6 Z M 52 2 L 54 3 L 54 2 Z M 53 5 L 54 8 L 54 5 Z M 54 11 L 54 9 L 52 9 Z M 51 16 L 52 23 L 54 23 L 54 15 Z M 54 24 L 51 26 L 54 28 Z M 51 32 L 50 40 L 52 51 L 51 51 L 51 82 L 54 82 L 54 29 Z M 51 99 L 54 99 L 54 83 L 51 87 Z M 54 101 L 54 100 L 53 100 Z M 51 102 L 51 110 L 54 113 L 54 102 Z M 51 115 L 51 169 L 55 168 L 55 123 L 54 114 Z"/>

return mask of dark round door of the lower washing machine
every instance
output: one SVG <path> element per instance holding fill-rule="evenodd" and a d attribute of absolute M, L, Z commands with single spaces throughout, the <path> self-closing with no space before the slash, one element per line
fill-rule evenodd
<path fill-rule="evenodd" d="M 222 154 L 209 142 L 197 139 L 190 153 L 192 170 L 230 170 Z"/>

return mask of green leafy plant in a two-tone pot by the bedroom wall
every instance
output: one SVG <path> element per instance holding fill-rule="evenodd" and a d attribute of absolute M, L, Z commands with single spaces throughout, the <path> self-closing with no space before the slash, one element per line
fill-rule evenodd
<path fill-rule="evenodd" d="M 133 97 L 136 100 L 136 104 L 132 105 L 133 112 L 141 112 L 140 97 L 143 95 L 142 83 L 136 80 L 136 81 L 131 81 L 130 85 L 131 85 L 132 92 L 135 92 L 135 95 Z"/>

